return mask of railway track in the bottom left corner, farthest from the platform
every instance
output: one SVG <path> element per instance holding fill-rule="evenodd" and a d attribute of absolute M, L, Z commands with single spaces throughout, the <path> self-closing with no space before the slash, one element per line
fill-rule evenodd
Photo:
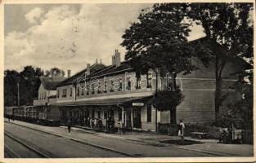
<path fill-rule="evenodd" d="M 20 145 L 25 147 L 29 152 L 33 152 L 35 154 L 34 156 L 38 156 L 39 158 L 51 158 L 50 156 L 47 156 L 47 154 L 40 152 L 38 149 L 32 147 L 25 141 L 16 138 L 12 134 L 7 133 L 6 131 L 4 131 L 4 135 L 7 136 L 8 138 L 10 138 L 11 140 L 15 141 L 16 143 L 20 143 Z M 7 146 L 7 144 L 5 144 L 4 146 L 5 146 L 5 152 L 7 152 L 8 156 L 16 157 L 16 158 L 22 157 L 22 156 L 20 156 L 20 154 L 18 152 L 15 152 L 15 150 L 13 150 L 9 146 Z"/>

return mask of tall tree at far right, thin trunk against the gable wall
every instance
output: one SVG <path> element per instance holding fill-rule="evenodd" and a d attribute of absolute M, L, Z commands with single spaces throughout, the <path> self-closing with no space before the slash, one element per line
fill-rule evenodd
<path fill-rule="evenodd" d="M 248 58 L 251 63 L 253 60 L 254 27 L 249 15 L 253 3 L 191 3 L 188 6 L 186 16 L 203 26 L 206 37 L 227 49 L 222 54 L 212 53 L 215 57 L 215 112 L 218 120 L 220 106 L 227 97 L 222 93 L 222 71 L 227 62 L 237 56 Z"/>

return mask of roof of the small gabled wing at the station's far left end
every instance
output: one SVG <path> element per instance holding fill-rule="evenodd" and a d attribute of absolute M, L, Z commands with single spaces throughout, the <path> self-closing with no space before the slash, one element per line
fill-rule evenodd
<path fill-rule="evenodd" d="M 65 77 L 40 77 L 43 88 L 46 90 L 56 90 L 56 86 L 64 80 Z"/>

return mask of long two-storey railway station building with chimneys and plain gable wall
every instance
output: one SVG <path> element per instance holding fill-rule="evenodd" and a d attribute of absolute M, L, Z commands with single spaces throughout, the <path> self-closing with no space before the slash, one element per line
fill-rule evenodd
<path fill-rule="evenodd" d="M 205 38 L 196 40 L 197 43 L 213 47 L 219 54 L 227 52 L 216 42 Z M 87 64 L 81 72 L 59 82 L 56 87 L 56 99 L 52 106 L 60 109 L 61 121 L 65 123 L 72 118 L 78 125 L 88 125 L 88 120 L 101 119 L 103 126 L 111 117 L 122 121 L 125 128 L 133 130 L 155 131 L 155 124 L 176 124 L 182 119 L 185 123 L 211 123 L 215 121 L 214 91 L 215 91 L 215 61 L 211 60 L 204 67 L 199 60 L 193 62 L 199 68 L 186 76 L 177 74 L 176 83 L 185 96 L 182 104 L 176 110 L 160 112 L 151 104 L 156 89 L 164 89 L 166 79 L 155 77 L 154 71 L 141 75 L 138 80 L 136 73 L 127 62 L 121 62 L 119 51 L 115 50 L 112 64 Z M 227 104 L 241 98 L 232 84 L 237 80 L 234 73 L 246 64 L 236 58 L 227 62 L 222 72 L 222 91 L 229 94 L 221 109 Z M 159 87 L 156 88 L 156 80 Z M 51 103 L 50 103 L 51 104 Z"/>

